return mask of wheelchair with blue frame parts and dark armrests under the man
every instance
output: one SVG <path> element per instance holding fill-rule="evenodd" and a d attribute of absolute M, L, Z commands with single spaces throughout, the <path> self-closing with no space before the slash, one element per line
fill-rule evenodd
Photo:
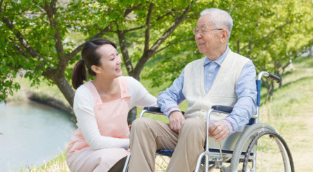
<path fill-rule="evenodd" d="M 222 141 L 215 141 L 208 135 L 210 116 L 213 113 L 229 114 L 233 107 L 214 105 L 206 114 L 206 145 L 197 160 L 195 171 L 294 171 L 292 154 L 278 132 L 267 123 L 258 123 L 260 107 L 261 78 L 265 76 L 280 82 L 280 78 L 261 71 L 256 80 L 257 110 L 242 132 L 234 132 Z M 163 114 L 159 107 L 144 107 L 139 117 L 145 113 Z M 156 155 L 169 162 L 174 150 L 156 150 Z M 130 153 L 123 171 L 127 171 Z M 164 162 L 163 162 L 164 163 Z M 159 166 L 159 168 L 158 168 Z M 166 165 L 156 164 L 156 171 L 166 171 Z"/>

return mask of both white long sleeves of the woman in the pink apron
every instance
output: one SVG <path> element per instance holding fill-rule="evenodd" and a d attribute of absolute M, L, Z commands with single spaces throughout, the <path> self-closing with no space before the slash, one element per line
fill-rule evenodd
<path fill-rule="evenodd" d="M 132 77 L 127 77 L 129 83 L 130 107 L 154 106 L 156 98 Z M 78 127 L 82 131 L 84 139 L 93 150 L 101 148 L 129 148 L 129 139 L 118 139 L 100 135 L 94 113 L 95 103 L 93 96 L 87 87 L 80 86 L 74 97 L 73 110 L 75 112 Z"/>

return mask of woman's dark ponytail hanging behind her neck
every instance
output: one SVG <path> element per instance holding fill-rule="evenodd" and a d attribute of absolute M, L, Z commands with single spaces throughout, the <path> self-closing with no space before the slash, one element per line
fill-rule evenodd
<path fill-rule="evenodd" d="M 83 80 L 87 80 L 86 68 L 84 66 L 84 60 L 79 60 L 72 73 L 72 85 L 75 89 L 80 87 L 84 83 Z"/>

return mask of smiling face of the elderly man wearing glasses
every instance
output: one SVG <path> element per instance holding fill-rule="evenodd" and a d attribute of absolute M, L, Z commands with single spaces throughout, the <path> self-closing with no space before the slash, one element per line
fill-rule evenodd
<path fill-rule="evenodd" d="M 203 15 L 199 17 L 196 28 L 199 31 L 203 29 L 215 29 L 213 26 L 209 24 L 210 15 Z M 219 33 L 220 31 L 206 31 L 203 34 L 198 32 L 195 34 L 195 41 L 197 42 L 197 46 L 200 53 L 203 53 L 208 58 L 214 54 L 214 51 L 217 51 L 217 47 L 219 46 Z"/>

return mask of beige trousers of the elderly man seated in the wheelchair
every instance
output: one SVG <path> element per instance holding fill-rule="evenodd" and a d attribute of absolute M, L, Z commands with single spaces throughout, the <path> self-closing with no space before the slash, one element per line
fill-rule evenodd
<path fill-rule="evenodd" d="M 206 122 L 188 118 L 179 134 L 166 123 L 152 119 L 136 119 L 130 132 L 129 172 L 154 171 L 156 150 L 172 149 L 174 153 L 166 171 L 190 172 L 195 169 L 197 158 L 204 151 Z"/>

